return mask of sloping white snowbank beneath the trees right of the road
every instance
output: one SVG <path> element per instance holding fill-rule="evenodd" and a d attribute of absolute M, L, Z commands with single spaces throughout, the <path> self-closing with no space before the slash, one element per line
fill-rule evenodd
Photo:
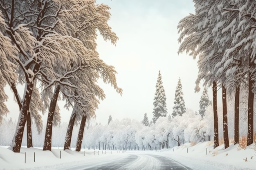
<path fill-rule="evenodd" d="M 231 144 L 224 149 L 224 144 L 213 149 L 209 142 L 191 146 L 186 143 L 180 147 L 161 150 L 161 155 L 184 163 L 193 170 L 256 170 L 256 146 L 245 149 L 238 144 Z M 184 161 L 185 160 L 185 161 Z"/>

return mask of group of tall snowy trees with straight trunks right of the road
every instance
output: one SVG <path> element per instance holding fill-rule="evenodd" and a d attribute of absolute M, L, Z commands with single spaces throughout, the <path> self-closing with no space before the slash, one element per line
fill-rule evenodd
<path fill-rule="evenodd" d="M 247 95 L 247 146 L 254 142 L 255 24 L 254 0 L 193 0 L 195 14 L 180 20 L 178 53 L 198 59 L 199 84 L 213 89 L 214 148 L 219 146 L 217 89 L 222 89 L 225 148 L 229 147 L 227 100 L 234 98 L 234 144 L 239 143 L 240 94 Z"/>

